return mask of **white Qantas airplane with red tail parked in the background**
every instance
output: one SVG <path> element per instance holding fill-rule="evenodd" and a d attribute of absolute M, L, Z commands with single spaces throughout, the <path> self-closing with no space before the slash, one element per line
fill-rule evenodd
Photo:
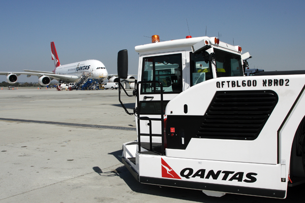
<path fill-rule="evenodd" d="M 114 75 L 108 76 L 105 65 L 98 60 L 85 60 L 66 65 L 60 65 L 54 42 L 51 42 L 52 60 L 54 60 L 55 69 L 52 72 L 23 70 L 24 72 L 0 72 L 0 75 L 7 76 L 7 82 L 14 84 L 20 75 L 27 77 L 38 76 L 40 85 L 49 85 L 51 80 L 56 79 L 60 83 L 73 83 L 80 78 L 84 73 L 90 73 L 92 79 L 109 79 L 114 81 L 117 77 Z"/>

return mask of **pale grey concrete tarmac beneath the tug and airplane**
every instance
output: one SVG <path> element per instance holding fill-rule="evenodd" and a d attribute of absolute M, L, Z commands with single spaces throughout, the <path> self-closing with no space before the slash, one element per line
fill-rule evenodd
<path fill-rule="evenodd" d="M 132 94 L 132 91 L 129 91 Z M 121 98 L 132 112 L 135 97 Z M 286 199 L 138 183 L 121 163 L 136 140 L 135 117 L 117 90 L 0 90 L 2 202 L 303 202 L 303 185 Z M 268 180 L 266 180 L 268 181 Z"/>

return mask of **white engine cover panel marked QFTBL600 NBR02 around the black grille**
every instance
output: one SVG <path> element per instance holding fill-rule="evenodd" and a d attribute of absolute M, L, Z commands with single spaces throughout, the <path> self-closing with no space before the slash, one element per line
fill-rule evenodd
<path fill-rule="evenodd" d="M 243 80 L 245 79 L 245 80 Z M 280 79 L 288 79 L 289 83 L 285 86 L 263 86 L 263 80 L 279 79 L 279 76 L 253 76 L 253 77 L 231 77 L 217 78 L 206 81 L 190 88 L 184 94 L 177 95 L 167 105 L 166 115 L 204 115 L 211 99 L 216 91 L 231 91 L 231 90 L 273 90 L 279 96 L 279 101 L 276 108 L 267 120 L 264 128 L 260 132 L 260 136 L 253 141 L 240 141 L 240 140 L 218 140 L 218 139 L 192 139 L 186 150 L 173 150 L 167 149 L 166 155 L 170 157 L 180 158 L 194 158 L 194 159 L 207 159 L 207 160 L 222 160 L 222 161 L 236 161 L 236 162 L 250 162 L 250 163 L 265 163 L 277 164 L 277 131 L 283 123 L 288 112 L 292 108 L 298 94 L 304 86 L 304 76 L 281 76 Z M 228 87 L 227 81 L 242 81 L 256 80 L 256 87 Z M 217 83 L 225 82 L 223 88 L 217 88 Z M 205 91 L 206 90 L 206 91 Z M 202 94 L 192 92 L 202 92 Z M 188 92 L 190 92 L 188 94 Z M 304 101 L 305 102 L 305 101 Z M 172 105 L 171 105 L 172 104 Z M 183 112 L 183 106 L 188 105 L 188 113 Z M 298 105 L 300 112 L 304 112 L 300 105 Z M 172 112 L 172 113 L 171 113 Z M 305 115 L 305 114 L 301 114 Z M 299 116 L 302 117 L 302 116 Z M 300 119 L 300 118 L 298 118 Z M 301 118 L 302 119 L 302 118 Z M 301 120 L 300 119 L 300 120 Z M 300 120 L 295 121 L 295 126 L 298 126 Z M 294 131 L 288 130 L 286 137 L 290 136 L 292 143 Z M 285 128 L 283 128 L 285 130 Z M 283 131 L 281 131 L 283 134 Z M 196 146 L 200 145 L 198 148 Z M 291 148 L 288 147 L 288 149 Z M 258 150 L 259 149 L 259 150 Z M 289 153 L 290 154 L 290 153 Z M 287 157 L 286 157 L 287 158 Z"/>

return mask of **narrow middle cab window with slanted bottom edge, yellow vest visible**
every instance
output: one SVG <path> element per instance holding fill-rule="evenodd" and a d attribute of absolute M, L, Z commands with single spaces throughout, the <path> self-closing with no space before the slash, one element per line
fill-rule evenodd
<path fill-rule="evenodd" d="M 190 52 L 191 86 L 213 78 L 210 62 L 205 62 L 202 54 Z"/>

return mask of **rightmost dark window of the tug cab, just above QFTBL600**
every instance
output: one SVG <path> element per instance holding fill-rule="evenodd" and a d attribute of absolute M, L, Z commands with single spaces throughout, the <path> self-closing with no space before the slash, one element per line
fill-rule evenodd
<path fill-rule="evenodd" d="M 217 77 L 243 76 L 240 55 L 215 49 Z"/>

